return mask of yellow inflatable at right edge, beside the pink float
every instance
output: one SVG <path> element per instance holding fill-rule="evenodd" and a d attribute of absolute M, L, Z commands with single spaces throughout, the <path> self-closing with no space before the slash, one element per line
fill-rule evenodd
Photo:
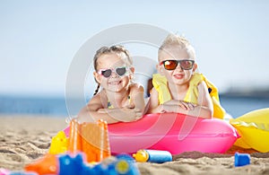
<path fill-rule="evenodd" d="M 235 145 L 253 148 L 258 152 L 269 152 L 269 108 L 257 109 L 247 114 L 230 119 L 241 136 Z"/>

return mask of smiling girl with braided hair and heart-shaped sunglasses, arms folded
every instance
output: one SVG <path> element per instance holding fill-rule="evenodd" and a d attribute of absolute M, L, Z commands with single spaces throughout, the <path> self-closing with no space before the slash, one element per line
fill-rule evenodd
<path fill-rule="evenodd" d="M 79 112 L 79 122 L 104 119 L 110 124 L 141 118 L 143 86 L 132 82 L 133 60 L 126 48 L 102 47 L 97 50 L 93 61 L 93 76 L 98 87 L 91 101 Z"/>

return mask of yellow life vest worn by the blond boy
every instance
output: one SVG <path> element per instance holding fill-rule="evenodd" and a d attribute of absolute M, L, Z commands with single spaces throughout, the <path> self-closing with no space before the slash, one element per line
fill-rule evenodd
<path fill-rule="evenodd" d="M 213 85 L 213 83 L 209 82 L 205 77 L 204 74 L 195 73 L 193 74 L 190 82 L 189 82 L 189 88 L 187 90 L 187 94 L 184 98 L 184 101 L 192 102 L 194 104 L 197 104 L 197 98 L 198 98 L 198 89 L 197 85 L 204 81 L 206 83 L 208 92 L 211 96 L 211 99 L 213 101 L 213 117 L 214 118 L 224 118 L 225 115 L 225 109 L 221 107 L 220 99 L 219 99 L 219 92 L 217 88 Z M 163 104 L 166 101 L 172 100 L 172 97 L 169 92 L 169 88 L 167 85 L 167 79 L 165 76 L 162 76 L 161 74 L 153 74 L 152 75 L 152 84 L 154 88 L 159 93 L 158 99 L 159 103 Z"/>

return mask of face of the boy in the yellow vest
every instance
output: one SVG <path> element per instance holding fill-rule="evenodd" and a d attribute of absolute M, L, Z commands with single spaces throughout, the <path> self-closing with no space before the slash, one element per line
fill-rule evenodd
<path fill-rule="evenodd" d="M 162 50 L 160 53 L 160 64 L 163 63 L 163 61 L 166 60 L 177 60 L 179 61 L 174 62 L 177 63 L 178 66 L 174 70 L 167 70 L 163 64 L 159 64 L 157 66 L 157 70 L 160 74 L 164 75 L 169 83 L 173 83 L 176 85 L 182 85 L 189 82 L 191 79 L 192 74 L 195 72 L 195 69 L 197 65 L 195 63 L 192 63 L 194 61 L 194 58 L 190 58 L 186 49 L 178 48 L 177 46 L 170 46 L 169 48 L 165 48 L 165 50 Z M 192 60 L 192 61 L 182 61 L 182 60 Z M 181 61 L 181 62 L 180 62 Z M 173 61 L 170 62 L 170 66 L 172 65 Z M 165 63 L 169 64 L 169 62 Z M 194 66 L 191 66 L 191 65 Z M 180 66 L 181 65 L 181 66 Z M 173 66 L 171 66 L 173 67 Z M 188 70 L 182 68 L 189 68 Z"/>

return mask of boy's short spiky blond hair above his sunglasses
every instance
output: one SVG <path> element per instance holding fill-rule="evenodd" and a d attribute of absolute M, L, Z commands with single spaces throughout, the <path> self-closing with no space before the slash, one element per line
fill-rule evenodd
<path fill-rule="evenodd" d="M 195 59 L 195 48 L 190 44 L 190 42 L 181 36 L 178 36 L 177 34 L 170 33 L 166 39 L 163 40 L 161 47 L 158 50 L 158 58 L 160 60 L 161 51 L 166 51 L 166 48 L 169 47 L 178 47 L 180 49 L 186 49 L 187 54 L 190 58 Z"/>

